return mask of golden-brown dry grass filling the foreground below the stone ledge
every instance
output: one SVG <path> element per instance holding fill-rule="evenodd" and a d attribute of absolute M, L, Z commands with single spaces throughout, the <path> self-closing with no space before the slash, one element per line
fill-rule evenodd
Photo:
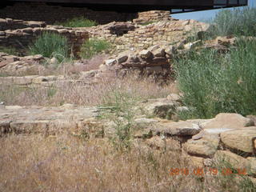
<path fill-rule="evenodd" d="M 245 191 L 232 178 L 170 176 L 193 168 L 178 151 L 120 153 L 106 139 L 67 134 L 10 135 L 0 145 L 0 191 Z"/>

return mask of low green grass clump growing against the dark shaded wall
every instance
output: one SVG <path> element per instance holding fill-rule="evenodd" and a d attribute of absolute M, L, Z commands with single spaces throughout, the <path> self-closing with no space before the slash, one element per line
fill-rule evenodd
<path fill-rule="evenodd" d="M 84 17 L 70 18 L 66 22 L 56 22 L 55 25 L 66 27 L 90 27 L 98 26 L 98 23 Z"/>

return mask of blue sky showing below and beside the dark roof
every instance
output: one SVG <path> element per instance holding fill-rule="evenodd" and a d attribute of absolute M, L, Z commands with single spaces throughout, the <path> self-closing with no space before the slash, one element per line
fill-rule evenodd
<path fill-rule="evenodd" d="M 249 6 L 256 6 L 255 0 L 249 0 Z M 218 12 L 218 10 L 206 10 L 206 11 L 196 11 L 196 12 L 191 12 L 191 13 L 186 13 L 186 14 L 173 14 L 173 18 L 178 18 L 178 19 L 196 19 L 196 20 L 205 20 L 209 18 L 213 18 L 214 15 Z"/>

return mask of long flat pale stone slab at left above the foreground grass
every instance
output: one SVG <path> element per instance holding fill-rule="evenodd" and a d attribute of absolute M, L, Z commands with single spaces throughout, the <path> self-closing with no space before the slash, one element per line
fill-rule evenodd
<path fill-rule="evenodd" d="M 94 106 L 59 107 L 43 106 L 1 106 L 0 134 L 45 133 L 55 134 L 59 130 L 78 130 L 88 118 L 96 118 L 98 109 Z"/>

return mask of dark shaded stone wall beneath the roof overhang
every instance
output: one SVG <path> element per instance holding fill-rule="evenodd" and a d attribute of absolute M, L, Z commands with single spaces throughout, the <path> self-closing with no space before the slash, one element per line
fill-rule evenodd
<path fill-rule="evenodd" d="M 17 2 L 0 10 L 0 18 L 15 18 L 26 21 L 43 21 L 47 24 L 64 22 L 68 18 L 89 18 L 99 24 L 124 22 L 137 17 L 137 14 L 117 13 L 114 11 L 94 11 L 86 7 L 49 6 L 46 3 Z"/>

